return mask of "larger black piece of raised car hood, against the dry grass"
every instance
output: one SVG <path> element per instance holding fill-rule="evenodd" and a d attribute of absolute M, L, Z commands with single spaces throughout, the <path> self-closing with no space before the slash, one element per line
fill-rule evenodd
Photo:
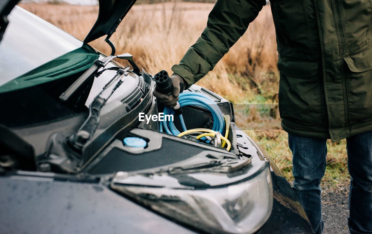
<path fill-rule="evenodd" d="M 97 21 L 84 39 L 84 43 L 91 42 L 104 35 L 110 37 L 135 1 L 136 0 L 99 0 Z"/>

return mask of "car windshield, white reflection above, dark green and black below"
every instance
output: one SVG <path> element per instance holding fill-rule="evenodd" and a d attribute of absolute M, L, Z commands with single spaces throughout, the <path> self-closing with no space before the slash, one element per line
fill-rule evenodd
<path fill-rule="evenodd" d="M 92 87 L 87 82 L 74 103 L 59 95 L 99 58 L 88 45 L 15 7 L 0 42 L 0 102 L 8 113 L 0 123 L 29 126 L 64 119 L 86 111 Z"/>

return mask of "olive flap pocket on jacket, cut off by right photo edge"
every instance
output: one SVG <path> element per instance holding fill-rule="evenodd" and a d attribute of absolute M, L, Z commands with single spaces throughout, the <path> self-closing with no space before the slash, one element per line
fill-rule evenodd
<path fill-rule="evenodd" d="M 372 119 L 372 47 L 345 57 L 349 121 Z"/>

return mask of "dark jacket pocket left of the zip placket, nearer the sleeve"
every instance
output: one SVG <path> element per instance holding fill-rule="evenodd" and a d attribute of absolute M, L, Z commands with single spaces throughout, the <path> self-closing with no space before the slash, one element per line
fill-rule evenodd
<path fill-rule="evenodd" d="M 318 63 L 280 58 L 279 113 L 302 124 L 322 124 L 322 76 Z"/>

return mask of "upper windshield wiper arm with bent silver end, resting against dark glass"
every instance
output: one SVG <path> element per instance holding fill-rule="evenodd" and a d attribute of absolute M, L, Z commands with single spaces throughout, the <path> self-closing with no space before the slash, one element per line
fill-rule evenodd
<path fill-rule="evenodd" d="M 114 55 L 114 56 L 108 56 L 103 58 L 102 60 L 96 60 L 94 61 L 92 67 L 90 67 L 86 72 L 83 73 L 70 87 L 66 89 L 65 92 L 63 92 L 60 95 L 61 101 L 68 101 L 75 93 L 76 91 L 93 75 L 95 75 L 98 70 L 102 67 L 105 67 L 111 60 L 113 59 L 124 59 L 128 60 L 128 62 L 133 67 L 133 72 L 137 75 L 140 75 L 140 69 L 133 61 L 133 56 L 129 53 L 120 54 L 120 55 Z"/>

